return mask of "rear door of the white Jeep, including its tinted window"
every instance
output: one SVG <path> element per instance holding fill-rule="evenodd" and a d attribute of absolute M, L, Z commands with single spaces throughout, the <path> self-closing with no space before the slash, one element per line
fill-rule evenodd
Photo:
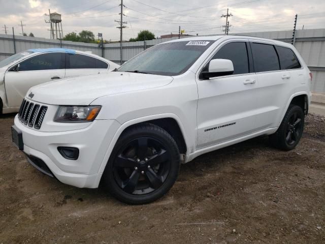
<path fill-rule="evenodd" d="M 271 42 L 250 42 L 259 90 L 256 128 L 264 130 L 277 127 L 281 109 L 287 102 L 292 82 L 289 71 L 281 70 L 276 47 Z"/>

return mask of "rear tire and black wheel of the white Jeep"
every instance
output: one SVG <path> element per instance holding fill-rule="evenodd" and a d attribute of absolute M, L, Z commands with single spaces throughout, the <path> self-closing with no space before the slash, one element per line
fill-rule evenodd
<path fill-rule="evenodd" d="M 272 146 L 281 150 L 292 150 L 300 141 L 304 131 L 305 114 L 300 106 L 291 104 L 278 130 L 270 135 Z"/>

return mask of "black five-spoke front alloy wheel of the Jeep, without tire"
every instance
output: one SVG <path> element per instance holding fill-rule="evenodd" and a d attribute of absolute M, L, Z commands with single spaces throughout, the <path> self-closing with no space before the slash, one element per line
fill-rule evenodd
<path fill-rule="evenodd" d="M 121 148 L 113 163 L 114 179 L 125 192 L 143 195 L 164 184 L 171 155 L 155 138 L 140 137 Z"/>

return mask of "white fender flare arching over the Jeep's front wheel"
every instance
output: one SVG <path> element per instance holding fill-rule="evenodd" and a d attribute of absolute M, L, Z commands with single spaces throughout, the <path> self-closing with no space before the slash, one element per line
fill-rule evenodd
<path fill-rule="evenodd" d="M 173 113 L 162 113 L 162 114 L 155 114 L 155 115 L 149 115 L 149 116 L 145 116 L 145 117 L 140 117 L 140 118 L 135 118 L 135 119 L 131 119 L 131 120 L 128 120 L 126 121 L 125 123 L 121 124 L 121 126 L 117 129 L 117 131 L 115 132 L 114 136 L 113 136 L 113 139 L 111 140 L 107 150 L 106 150 L 106 153 L 105 153 L 105 156 L 104 156 L 104 159 L 101 163 L 101 166 L 99 168 L 99 171 L 98 173 L 102 174 L 105 170 L 105 167 L 108 163 L 108 160 L 109 160 L 109 157 L 111 156 L 111 153 L 113 151 L 113 148 L 118 140 L 118 138 L 120 137 L 120 135 L 122 134 L 122 132 L 128 128 L 129 126 L 133 126 L 133 125 L 136 125 L 136 124 L 139 124 L 139 123 L 143 123 L 143 122 L 146 122 L 146 121 L 149 121 L 149 120 L 153 120 L 153 119 L 159 119 L 159 118 L 173 118 L 176 120 L 180 130 L 181 130 L 181 133 L 183 135 L 183 138 L 184 138 L 184 141 L 185 141 L 185 144 L 187 146 L 187 148 L 189 148 L 188 146 L 188 138 L 186 137 L 186 133 L 185 133 L 185 128 L 181 122 L 181 119 L 176 115 L 176 114 L 173 114 Z"/>

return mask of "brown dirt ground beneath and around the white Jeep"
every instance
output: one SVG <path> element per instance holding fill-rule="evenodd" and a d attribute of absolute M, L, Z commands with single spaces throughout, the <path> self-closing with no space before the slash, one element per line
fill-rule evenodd
<path fill-rule="evenodd" d="M 0 117 L 0 244 L 325 243 L 325 118 L 309 115 L 299 146 L 266 137 L 182 165 L 162 199 L 123 204 L 63 185 L 29 165 Z"/>

